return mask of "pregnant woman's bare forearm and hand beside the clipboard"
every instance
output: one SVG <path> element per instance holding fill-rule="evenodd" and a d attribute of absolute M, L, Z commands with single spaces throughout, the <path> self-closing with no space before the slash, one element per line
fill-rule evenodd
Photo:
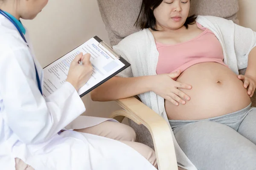
<path fill-rule="evenodd" d="M 91 98 L 94 101 L 110 101 L 153 91 L 174 105 L 179 105 L 179 103 L 184 105 L 185 100 L 190 100 L 190 97 L 178 88 L 191 89 L 192 87 L 173 80 L 179 75 L 180 71 L 134 78 L 114 77 L 96 88 L 91 93 Z"/>

